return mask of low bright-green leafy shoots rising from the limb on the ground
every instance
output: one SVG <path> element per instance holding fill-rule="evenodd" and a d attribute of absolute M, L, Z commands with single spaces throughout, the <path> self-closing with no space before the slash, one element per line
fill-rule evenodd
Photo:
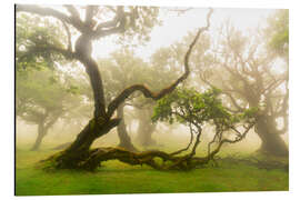
<path fill-rule="evenodd" d="M 177 89 L 174 92 L 158 101 L 154 108 L 152 120 L 174 121 L 186 124 L 190 129 L 190 143 L 187 148 L 176 151 L 172 154 L 181 153 L 190 148 L 196 137 L 196 141 L 190 157 L 196 154 L 197 146 L 200 143 L 203 126 L 210 124 L 214 128 L 213 139 L 208 144 L 207 159 L 213 159 L 223 143 L 236 143 L 242 140 L 249 130 L 254 126 L 254 116 L 258 108 L 250 108 L 243 112 L 232 113 L 220 99 L 221 90 L 211 88 L 202 93 L 196 89 Z M 234 139 L 226 138 L 224 132 L 234 133 Z M 227 134 L 228 136 L 228 134 Z M 218 143 L 214 151 L 211 151 L 211 144 Z"/>

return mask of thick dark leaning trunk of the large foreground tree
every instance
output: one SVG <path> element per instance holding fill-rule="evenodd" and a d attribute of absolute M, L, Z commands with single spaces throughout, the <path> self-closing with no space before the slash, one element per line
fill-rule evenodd
<path fill-rule="evenodd" d="M 93 119 L 77 136 L 70 147 L 51 157 L 56 168 L 80 168 L 81 162 L 90 156 L 92 142 L 108 133 L 120 122 L 120 119 L 111 119 L 111 117 L 107 116 L 102 78 L 97 62 L 91 57 L 91 36 L 82 33 L 76 42 L 74 57 L 84 66 L 90 78 L 94 100 Z"/>

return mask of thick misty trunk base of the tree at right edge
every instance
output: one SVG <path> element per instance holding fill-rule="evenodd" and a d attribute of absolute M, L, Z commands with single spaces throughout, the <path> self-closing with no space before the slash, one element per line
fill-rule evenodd
<path fill-rule="evenodd" d="M 266 117 L 260 117 L 258 119 L 256 132 L 261 139 L 259 151 L 271 156 L 288 157 L 288 147 L 273 126 L 274 124 L 267 122 Z"/>

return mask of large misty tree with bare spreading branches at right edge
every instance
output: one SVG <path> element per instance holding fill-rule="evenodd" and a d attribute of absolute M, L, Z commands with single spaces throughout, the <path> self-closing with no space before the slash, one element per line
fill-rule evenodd
<path fill-rule="evenodd" d="M 221 34 L 210 67 L 199 64 L 204 69 L 199 71 L 201 80 L 220 87 L 236 111 L 263 106 L 254 129 L 262 142 L 260 151 L 288 156 L 280 137 L 288 131 L 288 64 L 266 50 L 261 36 L 243 36 L 231 26 Z"/>

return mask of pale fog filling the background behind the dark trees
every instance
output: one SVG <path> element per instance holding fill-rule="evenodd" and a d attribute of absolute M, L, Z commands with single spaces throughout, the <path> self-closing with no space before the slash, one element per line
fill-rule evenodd
<path fill-rule="evenodd" d="M 64 7 L 52 8 L 62 13 L 68 12 Z M 83 18 L 84 9 L 78 9 Z M 103 8 L 103 12 L 111 10 Z M 149 8 L 149 16 L 144 19 L 147 28 L 136 28 L 136 33 L 133 31 L 128 36 L 112 34 L 91 44 L 91 59 L 96 60 L 103 79 L 102 101 L 113 101 L 133 84 L 147 84 L 153 91 L 170 86 L 183 73 L 183 58 L 197 29 L 210 20 L 210 27 L 207 27 L 194 51 L 191 51 L 191 73 L 178 88 L 193 88 L 198 93 L 219 88 L 223 96 L 218 97 L 221 102 L 218 108 L 224 106 L 232 117 L 250 108 L 258 108 L 263 113 L 262 117 L 256 117 L 260 123 L 242 141 L 224 144 L 224 152 L 253 153 L 260 147 L 268 150 L 272 144 L 262 144 L 262 140 L 266 143 L 272 141 L 264 139 L 266 132 L 268 137 L 280 134 L 281 139 L 274 141 L 283 140 L 288 147 L 288 52 L 287 46 L 280 51 L 272 49 L 278 46 L 270 44 L 270 38 L 274 36 L 269 31 L 278 28 L 276 23 L 279 20 L 272 21 L 272 18 L 276 14 L 280 17 L 281 12 L 284 10 L 213 9 L 209 19 L 208 9 Z M 111 19 L 110 14 L 98 14 L 97 20 Z M 31 18 L 32 22 L 26 20 Z M 42 141 L 37 146 L 41 146 L 42 150 L 70 143 L 91 123 L 93 111 L 98 109 L 94 103 L 97 89 L 92 83 L 92 72 L 84 61 L 69 61 L 54 56 L 44 59 L 47 54 L 38 56 L 33 62 L 21 61 L 22 53 L 26 54 L 32 43 L 38 46 L 43 37 L 48 40 L 46 44 L 60 42 L 63 47 L 69 42 L 70 49 L 79 51 L 77 40 L 80 40 L 80 31 L 74 27 L 66 27 L 54 18 L 39 19 L 32 13 L 17 13 L 17 32 L 20 33 L 20 43 L 17 43 L 17 51 L 20 51 L 17 64 L 17 148 L 30 149 L 40 132 Z M 22 32 L 34 32 L 36 29 L 40 31 L 39 34 Z M 50 33 L 48 30 L 51 30 Z M 31 33 L 32 43 L 22 38 Z M 96 139 L 92 147 L 121 146 L 122 136 L 128 136 L 132 146 L 141 150 L 173 151 L 187 147 L 192 130 L 188 121 L 176 118 L 177 121 L 170 124 L 162 114 L 161 118 L 157 117 L 160 120 L 153 122 L 151 118 L 157 114 L 153 110 L 159 103 L 148 100 L 141 92 L 133 92 L 124 99 L 124 104 L 112 112 L 123 123 L 119 124 L 118 130 L 113 128 Z M 170 108 L 173 109 L 173 106 Z M 208 143 L 214 140 L 216 119 L 199 123 L 202 136 L 197 153 L 204 154 Z M 234 130 L 224 130 L 226 138 L 234 139 Z M 140 132 L 149 132 L 148 142 L 138 139 L 138 134 L 142 134 Z"/>

